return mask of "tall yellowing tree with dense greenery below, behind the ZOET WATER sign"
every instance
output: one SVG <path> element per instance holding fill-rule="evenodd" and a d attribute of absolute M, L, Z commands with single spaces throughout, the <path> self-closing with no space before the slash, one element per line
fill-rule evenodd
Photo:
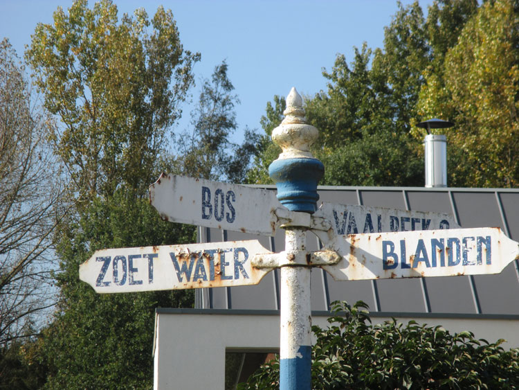
<path fill-rule="evenodd" d="M 118 19 L 108 0 L 61 8 L 26 52 L 56 119 L 55 154 L 71 177 L 73 215 L 55 235 L 60 301 L 24 359 L 46 387 L 150 388 L 157 306 L 190 307 L 192 292 L 98 295 L 79 265 L 104 248 L 192 242 L 194 228 L 161 221 L 147 190 L 167 165 L 167 138 L 193 83 L 198 54 L 184 51 L 172 12 Z M 171 168 L 171 167 L 165 167 Z"/>

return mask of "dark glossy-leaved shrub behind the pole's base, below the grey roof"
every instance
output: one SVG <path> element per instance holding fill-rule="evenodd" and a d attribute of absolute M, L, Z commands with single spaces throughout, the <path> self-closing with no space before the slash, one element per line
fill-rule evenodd
<path fill-rule="evenodd" d="M 512 389 L 519 386 L 519 349 L 504 351 L 470 332 L 406 325 L 372 325 L 367 305 L 332 305 L 330 326 L 313 326 L 312 389 Z M 279 387 L 279 357 L 240 389 Z"/>

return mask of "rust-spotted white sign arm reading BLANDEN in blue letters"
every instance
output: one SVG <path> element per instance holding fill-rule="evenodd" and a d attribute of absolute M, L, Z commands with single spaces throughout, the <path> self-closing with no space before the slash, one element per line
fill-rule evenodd
<path fill-rule="evenodd" d="M 354 234 L 330 246 L 342 259 L 322 268 L 336 281 L 498 274 L 519 256 L 499 228 Z"/>

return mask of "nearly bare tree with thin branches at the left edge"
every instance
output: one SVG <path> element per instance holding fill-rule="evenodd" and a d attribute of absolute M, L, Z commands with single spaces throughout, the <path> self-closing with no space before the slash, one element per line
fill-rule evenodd
<path fill-rule="evenodd" d="M 7 39 L 0 43 L 0 355 L 37 333 L 53 305 L 53 233 L 62 188 L 47 148 L 44 112 Z M 41 321 L 38 321 L 41 322 Z"/>

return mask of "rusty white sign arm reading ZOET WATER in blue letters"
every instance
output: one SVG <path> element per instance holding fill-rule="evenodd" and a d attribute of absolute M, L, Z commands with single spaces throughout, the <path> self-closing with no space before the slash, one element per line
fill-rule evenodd
<path fill-rule="evenodd" d="M 251 265 L 262 253 L 257 240 L 104 249 L 80 265 L 80 279 L 100 293 L 255 285 L 269 271 Z"/>

